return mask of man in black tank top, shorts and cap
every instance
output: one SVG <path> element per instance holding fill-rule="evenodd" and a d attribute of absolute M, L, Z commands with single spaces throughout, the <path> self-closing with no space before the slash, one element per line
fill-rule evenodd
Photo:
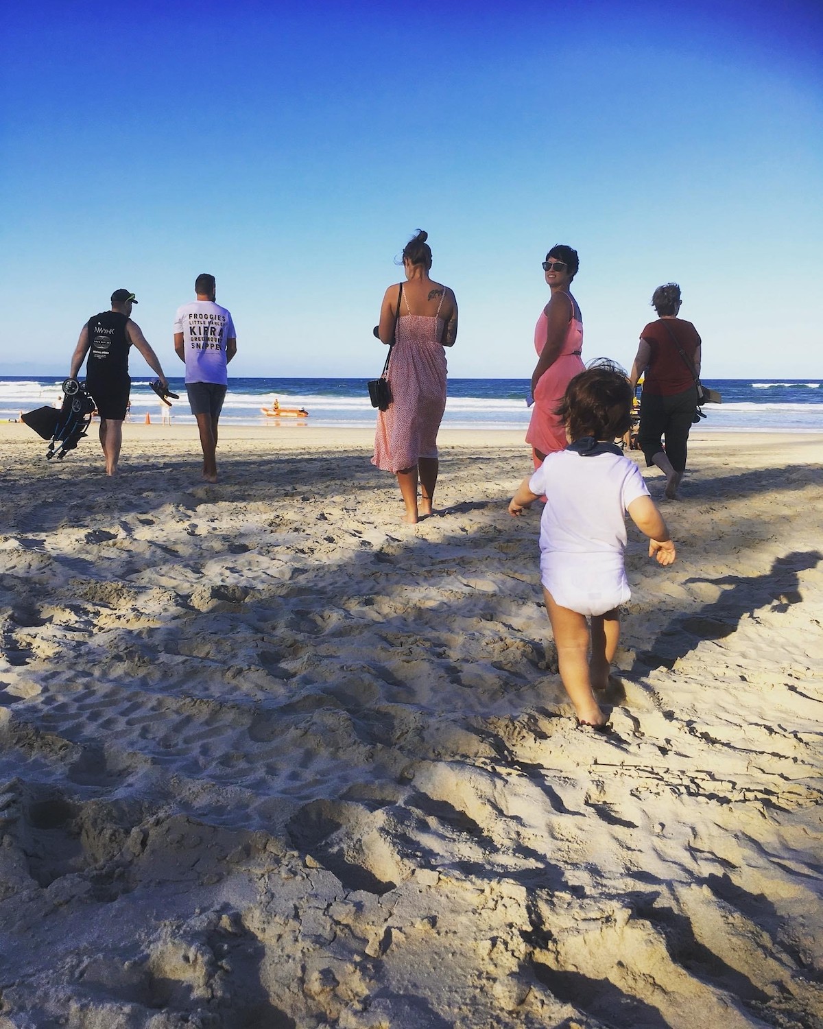
<path fill-rule="evenodd" d="M 132 305 L 137 304 L 128 289 L 115 289 L 111 294 L 111 311 L 94 315 L 83 325 L 71 359 L 69 378 L 76 379 L 83 358 L 85 386 L 100 415 L 100 445 L 106 459 L 106 474 L 117 471 L 122 443 L 122 423 L 129 406 L 129 348 L 137 347 L 146 363 L 157 372 L 160 385 L 168 390 L 157 355 L 149 346 L 140 326 L 132 321 Z"/>

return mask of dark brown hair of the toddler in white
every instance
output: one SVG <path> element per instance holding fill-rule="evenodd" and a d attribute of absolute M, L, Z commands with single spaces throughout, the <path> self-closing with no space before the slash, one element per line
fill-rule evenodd
<path fill-rule="evenodd" d="M 632 385 L 619 364 L 600 358 L 572 379 L 557 410 L 572 439 L 616 439 L 629 431 Z"/>

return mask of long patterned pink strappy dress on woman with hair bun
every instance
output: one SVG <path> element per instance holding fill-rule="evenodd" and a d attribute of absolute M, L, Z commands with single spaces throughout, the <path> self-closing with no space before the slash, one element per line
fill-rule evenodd
<path fill-rule="evenodd" d="M 445 353 L 440 307 L 436 315 L 413 315 L 403 293 L 406 313 L 397 319 L 389 388 L 392 402 L 378 412 L 374 456 L 371 463 L 384 471 L 413 468 L 421 457 L 437 457 L 437 430 L 445 410 Z"/>

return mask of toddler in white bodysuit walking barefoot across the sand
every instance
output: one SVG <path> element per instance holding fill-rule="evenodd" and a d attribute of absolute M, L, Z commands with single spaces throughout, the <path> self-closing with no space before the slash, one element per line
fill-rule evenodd
<path fill-rule="evenodd" d="M 660 565 L 675 560 L 640 469 L 613 442 L 629 429 L 633 399 L 625 375 L 611 362 L 575 376 L 558 410 L 569 446 L 524 478 L 508 505 L 510 514 L 522 514 L 546 497 L 540 579 L 560 674 L 578 724 L 599 732 L 608 732 L 609 724 L 595 690 L 608 685 L 620 638 L 617 608 L 631 596 L 623 566 L 625 512 L 649 537 L 649 557 Z"/>

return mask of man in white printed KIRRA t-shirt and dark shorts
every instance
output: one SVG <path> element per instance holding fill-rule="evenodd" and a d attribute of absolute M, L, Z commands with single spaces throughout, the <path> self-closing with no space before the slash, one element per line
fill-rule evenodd
<path fill-rule="evenodd" d="M 186 392 L 198 420 L 203 447 L 203 477 L 217 482 L 217 422 L 225 399 L 226 365 L 238 350 L 231 315 L 214 303 L 213 275 L 199 275 L 196 300 L 178 308 L 174 320 L 174 349 L 186 365 Z"/>

